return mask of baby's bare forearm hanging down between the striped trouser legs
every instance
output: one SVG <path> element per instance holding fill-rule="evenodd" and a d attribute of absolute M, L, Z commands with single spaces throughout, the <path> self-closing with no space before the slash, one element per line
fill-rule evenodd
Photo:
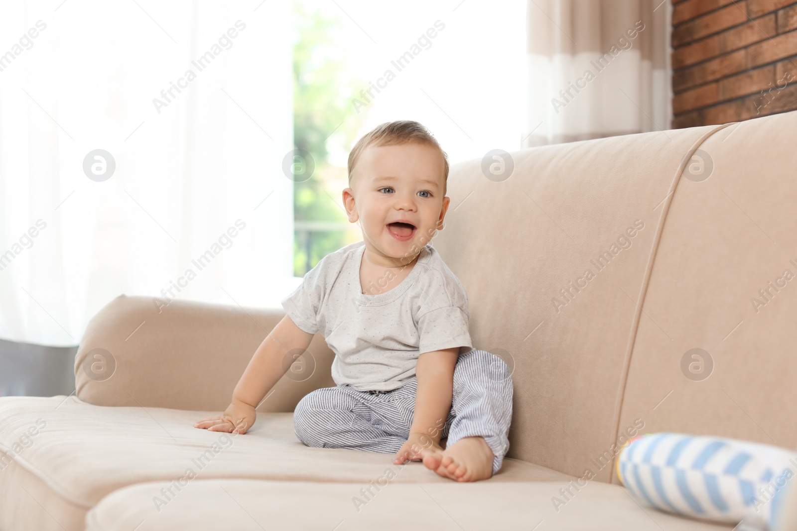
<path fill-rule="evenodd" d="M 459 347 L 434 350 L 418 356 L 415 377 L 418 391 L 415 394 L 415 412 L 410 426 L 410 439 L 426 440 L 440 445 L 442 427 L 451 411 L 453 396 L 453 368 L 457 365 Z M 422 436 L 426 435 L 426 436 Z"/>

